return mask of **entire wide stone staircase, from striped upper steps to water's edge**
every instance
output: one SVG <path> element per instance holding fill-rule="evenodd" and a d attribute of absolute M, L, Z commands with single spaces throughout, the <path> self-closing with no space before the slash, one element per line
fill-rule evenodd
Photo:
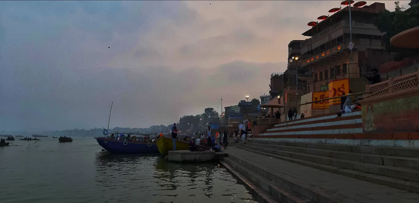
<path fill-rule="evenodd" d="M 418 203 L 417 136 L 362 133 L 360 111 L 328 114 L 277 124 L 224 162 L 284 203 Z"/>

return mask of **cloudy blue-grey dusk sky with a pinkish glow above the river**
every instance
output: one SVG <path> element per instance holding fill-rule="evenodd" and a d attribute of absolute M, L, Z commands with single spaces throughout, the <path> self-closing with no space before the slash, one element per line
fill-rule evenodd
<path fill-rule="evenodd" d="M 394 10 L 394 1 L 378 1 Z M 401 1 L 409 8 L 409 0 Z M 372 1 L 367 2 L 368 5 Z M 168 125 L 268 93 L 317 1 L 0 1 L 0 128 Z"/>

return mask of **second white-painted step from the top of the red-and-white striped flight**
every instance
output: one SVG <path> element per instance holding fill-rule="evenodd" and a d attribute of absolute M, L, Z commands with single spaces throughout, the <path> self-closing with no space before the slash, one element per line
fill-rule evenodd
<path fill-rule="evenodd" d="M 269 131 L 297 129 L 297 128 L 310 128 L 310 127 L 320 127 L 320 126 L 337 126 L 337 125 L 347 125 L 347 124 L 355 124 L 355 123 L 362 123 L 361 115 L 348 116 L 348 117 L 337 117 L 337 118 L 330 118 L 330 119 L 326 119 L 326 120 L 309 121 L 309 122 L 303 122 L 303 123 L 294 123 L 294 124 L 290 124 L 290 125 L 269 128 L 266 131 L 269 132 Z"/>

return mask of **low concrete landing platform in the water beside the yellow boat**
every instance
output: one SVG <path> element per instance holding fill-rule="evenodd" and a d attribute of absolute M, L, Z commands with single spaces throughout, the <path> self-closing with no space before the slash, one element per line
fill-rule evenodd
<path fill-rule="evenodd" d="M 168 159 L 174 162 L 210 162 L 215 160 L 215 152 L 190 152 L 189 150 L 169 151 Z"/>

